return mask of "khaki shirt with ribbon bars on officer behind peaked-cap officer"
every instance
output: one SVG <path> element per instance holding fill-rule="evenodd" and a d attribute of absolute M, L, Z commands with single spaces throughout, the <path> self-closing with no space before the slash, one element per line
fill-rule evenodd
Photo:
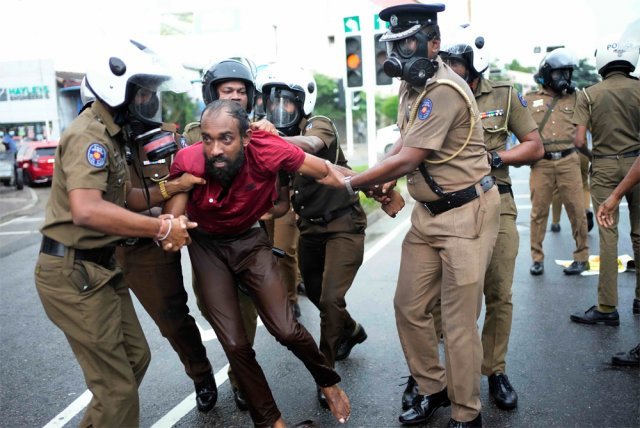
<path fill-rule="evenodd" d="M 511 84 L 481 78 L 475 97 L 488 151 L 505 150 L 509 132 L 523 136 L 538 128 L 527 109 L 527 102 Z M 493 168 L 491 175 L 496 177 L 498 184 L 511 184 L 508 165 Z"/>

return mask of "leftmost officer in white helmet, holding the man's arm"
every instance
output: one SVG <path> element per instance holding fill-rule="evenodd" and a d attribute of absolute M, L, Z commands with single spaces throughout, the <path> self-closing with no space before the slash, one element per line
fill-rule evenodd
<path fill-rule="evenodd" d="M 47 316 L 67 337 L 93 398 L 83 427 L 139 425 L 138 386 L 150 352 L 122 271 L 114 258 L 123 237 L 154 238 L 179 251 L 190 242 L 186 217 L 151 218 L 128 183 L 126 143 L 155 123 L 158 91 L 183 92 L 188 80 L 133 41 L 105 52 L 86 74 L 98 98 L 67 128 L 35 268 Z M 157 126 L 157 125 L 155 125 Z"/>

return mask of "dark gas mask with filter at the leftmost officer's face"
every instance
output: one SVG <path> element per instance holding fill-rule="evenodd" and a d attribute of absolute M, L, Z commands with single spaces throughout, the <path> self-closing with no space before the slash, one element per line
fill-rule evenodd
<path fill-rule="evenodd" d="M 132 85 L 131 101 L 124 112 L 128 140 L 141 146 L 151 162 L 178 151 L 172 132 L 162 130 L 160 100 L 155 91 Z"/>

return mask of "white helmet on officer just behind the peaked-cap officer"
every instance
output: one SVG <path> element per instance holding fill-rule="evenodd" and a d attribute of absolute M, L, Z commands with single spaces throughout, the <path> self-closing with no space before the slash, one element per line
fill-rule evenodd
<path fill-rule="evenodd" d="M 469 70 L 467 82 L 473 81 L 489 68 L 489 57 L 484 48 L 485 39 L 477 34 L 469 24 L 461 25 L 457 31 L 444 40 L 440 48 L 443 60 L 457 60 Z"/>

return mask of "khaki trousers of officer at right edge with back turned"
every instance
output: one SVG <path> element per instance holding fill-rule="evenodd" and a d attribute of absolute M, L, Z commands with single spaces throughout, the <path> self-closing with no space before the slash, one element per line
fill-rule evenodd
<path fill-rule="evenodd" d="M 591 198 L 593 209 L 600 204 L 622 181 L 636 158 L 594 159 L 591 167 Z M 631 245 L 636 263 L 636 298 L 640 299 L 640 186 L 636 185 L 625 195 L 629 206 Z M 614 225 L 610 228 L 598 225 L 600 236 L 600 275 L 598 276 L 598 304 L 618 306 L 618 220 L 616 209 Z"/>

